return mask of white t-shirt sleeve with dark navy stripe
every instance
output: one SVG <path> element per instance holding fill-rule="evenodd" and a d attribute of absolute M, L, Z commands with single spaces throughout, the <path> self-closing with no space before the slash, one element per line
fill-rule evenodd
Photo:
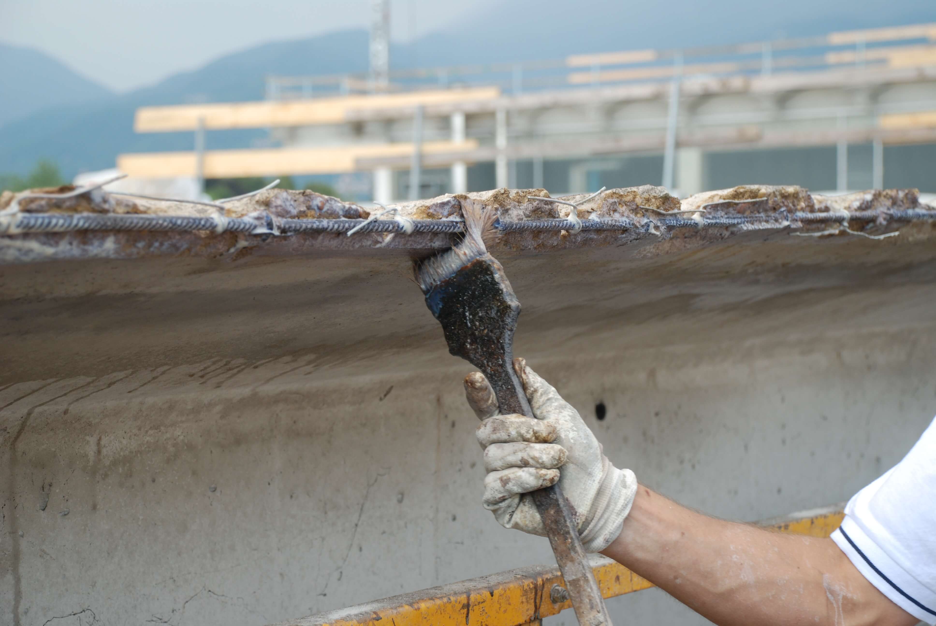
<path fill-rule="evenodd" d="M 885 596 L 936 624 L 936 419 L 903 460 L 848 502 L 832 539 Z"/>

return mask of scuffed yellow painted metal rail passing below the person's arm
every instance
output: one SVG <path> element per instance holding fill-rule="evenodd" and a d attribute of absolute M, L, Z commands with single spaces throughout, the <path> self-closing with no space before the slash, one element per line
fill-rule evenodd
<path fill-rule="evenodd" d="M 759 522 L 781 532 L 827 537 L 841 524 L 841 505 L 804 511 Z M 606 598 L 650 589 L 653 584 L 605 557 L 593 560 L 594 575 Z M 277 626 L 519 626 L 538 624 L 566 608 L 553 603 L 549 591 L 563 585 L 556 566 L 533 566 L 348 606 L 281 622 Z"/>

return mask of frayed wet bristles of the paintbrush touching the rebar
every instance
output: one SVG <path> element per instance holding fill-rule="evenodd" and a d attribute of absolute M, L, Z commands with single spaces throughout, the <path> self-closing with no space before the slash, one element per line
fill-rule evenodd
<path fill-rule="evenodd" d="M 471 199 L 461 200 L 461 214 L 465 219 L 465 237 L 451 250 L 431 256 L 416 267 L 416 281 L 423 293 L 451 278 L 455 272 L 476 258 L 488 254 L 488 244 L 497 240 L 494 228 L 497 211 L 485 211 L 484 205 Z"/>

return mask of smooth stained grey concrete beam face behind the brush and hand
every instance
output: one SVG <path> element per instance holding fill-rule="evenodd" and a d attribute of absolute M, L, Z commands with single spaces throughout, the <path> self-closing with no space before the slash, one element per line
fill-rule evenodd
<path fill-rule="evenodd" d="M 908 229 L 499 255 L 516 353 L 680 502 L 841 502 L 936 414 L 934 231 Z M 0 285 L 0 623 L 262 626 L 551 560 L 479 505 L 470 368 L 401 253 L 49 262 Z M 705 623 L 658 590 L 610 608 Z"/>

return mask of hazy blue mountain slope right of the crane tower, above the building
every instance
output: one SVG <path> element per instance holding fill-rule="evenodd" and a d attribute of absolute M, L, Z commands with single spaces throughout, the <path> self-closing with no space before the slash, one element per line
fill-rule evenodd
<path fill-rule="evenodd" d="M 501 0 L 485 13 L 396 51 L 396 66 L 562 58 L 568 54 L 672 49 L 816 36 L 837 30 L 936 21 L 919 0 Z"/>

